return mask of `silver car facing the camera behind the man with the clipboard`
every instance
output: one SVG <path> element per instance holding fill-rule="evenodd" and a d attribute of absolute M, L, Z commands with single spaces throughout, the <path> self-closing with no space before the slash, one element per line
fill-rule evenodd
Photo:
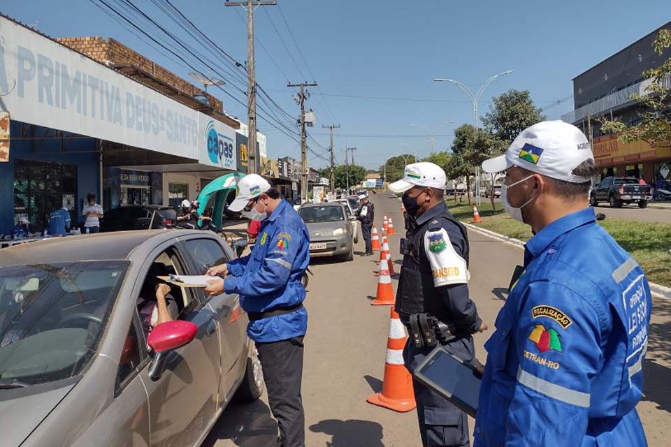
<path fill-rule="evenodd" d="M 306 203 L 298 209 L 310 233 L 310 256 L 340 256 L 354 259 L 352 217 L 347 217 L 342 203 Z M 356 218 L 354 218 L 356 219 Z"/>

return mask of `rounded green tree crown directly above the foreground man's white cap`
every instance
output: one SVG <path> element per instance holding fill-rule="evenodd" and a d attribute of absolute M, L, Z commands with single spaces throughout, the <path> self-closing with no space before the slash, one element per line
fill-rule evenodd
<path fill-rule="evenodd" d="M 528 126 L 547 119 L 534 105 L 528 90 L 510 89 L 491 98 L 491 102 L 482 123 L 489 133 L 507 145 Z"/>

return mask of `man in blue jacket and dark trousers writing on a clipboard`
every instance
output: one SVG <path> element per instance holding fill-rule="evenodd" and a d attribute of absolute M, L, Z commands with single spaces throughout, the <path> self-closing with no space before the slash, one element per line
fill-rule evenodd
<path fill-rule="evenodd" d="M 301 278 L 310 263 L 308 228 L 294 207 L 256 174 L 240 179 L 229 210 L 261 221 L 260 235 L 252 254 L 208 270 L 225 278 L 209 281 L 205 292 L 240 295 L 250 318 L 247 335 L 256 344 L 268 403 L 280 428 L 278 442 L 282 447 L 303 447 L 301 379 L 308 312 Z"/>

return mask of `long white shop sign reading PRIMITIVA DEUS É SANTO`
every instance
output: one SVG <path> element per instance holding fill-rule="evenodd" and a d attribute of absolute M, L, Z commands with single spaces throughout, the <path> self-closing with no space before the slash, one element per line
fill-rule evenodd
<path fill-rule="evenodd" d="M 0 92 L 12 119 L 199 158 L 203 114 L 4 17 L 0 36 Z"/>

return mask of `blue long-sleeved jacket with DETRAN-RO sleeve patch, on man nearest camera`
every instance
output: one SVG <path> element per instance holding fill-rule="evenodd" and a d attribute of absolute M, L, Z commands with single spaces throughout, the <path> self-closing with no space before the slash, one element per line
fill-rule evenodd
<path fill-rule="evenodd" d="M 475 447 L 647 445 L 650 314 L 643 270 L 592 208 L 543 228 L 485 344 Z"/>

